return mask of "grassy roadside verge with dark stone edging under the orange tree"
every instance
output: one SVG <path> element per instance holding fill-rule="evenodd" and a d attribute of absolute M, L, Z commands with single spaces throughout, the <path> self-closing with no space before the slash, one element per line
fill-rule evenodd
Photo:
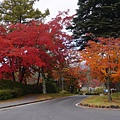
<path fill-rule="evenodd" d="M 119 96 L 113 97 L 112 101 L 108 101 L 107 96 L 89 96 L 76 106 L 87 107 L 87 108 L 102 108 L 102 109 L 118 109 L 120 110 L 120 99 Z"/>

